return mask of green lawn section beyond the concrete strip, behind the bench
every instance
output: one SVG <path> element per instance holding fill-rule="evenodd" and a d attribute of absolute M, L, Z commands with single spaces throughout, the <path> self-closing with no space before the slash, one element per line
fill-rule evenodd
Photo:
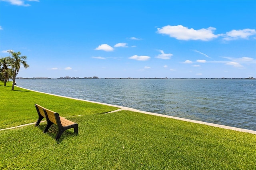
<path fill-rule="evenodd" d="M 54 95 L 37 93 L 19 87 L 11 90 L 0 82 L 0 129 L 33 123 L 38 119 L 34 104 L 58 112 L 60 116 L 92 115 L 114 111 L 118 108 L 84 101 L 76 101 Z"/>

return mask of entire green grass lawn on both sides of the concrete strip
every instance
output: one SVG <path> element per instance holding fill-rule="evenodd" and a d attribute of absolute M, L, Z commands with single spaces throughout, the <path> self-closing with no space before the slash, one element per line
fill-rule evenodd
<path fill-rule="evenodd" d="M 116 108 L 9 89 L 0 84 L 1 127 L 35 122 L 34 103 L 82 116 L 68 117 L 79 135 L 69 129 L 58 141 L 55 125 L 42 132 L 46 123 L 0 131 L 0 169 L 256 169 L 255 134 L 132 111 L 101 114 Z"/>

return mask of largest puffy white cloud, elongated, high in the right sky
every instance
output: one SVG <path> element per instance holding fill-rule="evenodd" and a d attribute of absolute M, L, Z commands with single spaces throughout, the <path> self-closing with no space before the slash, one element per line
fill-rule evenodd
<path fill-rule="evenodd" d="M 172 38 L 177 40 L 202 40 L 209 41 L 214 38 L 217 38 L 220 35 L 213 34 L 213 31 L 216 30 L 214 27 L 209 27 L 207 29 L 202 28 L 200 30 L 194 30 L 193 28 L 187 28 L 182 25 L 178 26 L 164 26 L 157 29 L 159 34 L 167 34 Z"/>

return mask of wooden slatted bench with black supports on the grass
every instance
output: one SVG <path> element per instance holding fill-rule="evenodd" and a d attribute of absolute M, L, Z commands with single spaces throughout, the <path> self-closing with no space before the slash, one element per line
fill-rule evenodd
<path fill-rule="evenodd" d="M 49 109 L 46 109 L 40 105 L 35 104 L 36 111 L 38 113 L 38 120 L 36 121 L 36 125 L 38 126 L 39 123 L 42 121 L 42 119 L 46 118 L 47 125 L 44 129 L 44 133 L 48 131 L 50 126 L 52 124 L 57 125 L 58 127 L 58 133 L 56 134 L 55 139 L 57 140 L 60 138 L 62 133 L 70 128 L 74 128 L 74 133 L 78 134 L 78 124 L 74 123 L 72 121 L 69 121 L 68 119 L 65 119 L 63 117 L 60 117 L 60 115 L 54 111 L 50 111 Z"/>

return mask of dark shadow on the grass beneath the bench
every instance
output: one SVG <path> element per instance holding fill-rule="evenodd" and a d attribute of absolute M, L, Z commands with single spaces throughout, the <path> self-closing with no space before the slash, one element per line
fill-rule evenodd
<path fill-rule="evenodd" d="M 42 134 L 44 134 L 44 128 L 46 127 L 46 125 L 39 125 L 36 128 L 40 128 L 42 130 Z M 71 130 L 73 130 L 73 128 L 71 128 Z M 74 131 L 74 130 L 73 130 Z M 56 134 L 58 133 L 58 127 L 56 125 L 52 125 L 48 131 L 45 134 L 48 134 L 49 136 L 51 136 L 53 139 L 55 139 Z M 57 143 L 62 142 L 62 140 L 64 140 L 65 138 L 71 138 L 74 136 L 77 136 L 78 134 L 74 134 L 74 132 L 71 132 L 70 129 L 65 130 L 62 135 L 60 136 L 60 138 L 57 141 Z"/>

